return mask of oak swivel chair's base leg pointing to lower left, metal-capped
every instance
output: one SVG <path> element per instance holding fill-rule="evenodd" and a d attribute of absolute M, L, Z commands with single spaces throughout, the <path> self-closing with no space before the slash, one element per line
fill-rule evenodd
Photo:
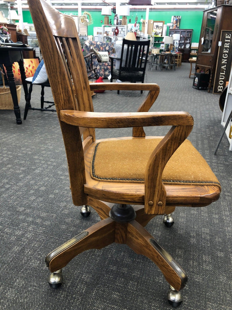
<path fill-rule="evenodd" d="M 51 272 L 55 272 L 78 254 L 89 249 L 102 249 L 113 243 L 114 234 L 115 222 L 110 218 L 104 219 L 50 252 L 46 264 Z"/>

